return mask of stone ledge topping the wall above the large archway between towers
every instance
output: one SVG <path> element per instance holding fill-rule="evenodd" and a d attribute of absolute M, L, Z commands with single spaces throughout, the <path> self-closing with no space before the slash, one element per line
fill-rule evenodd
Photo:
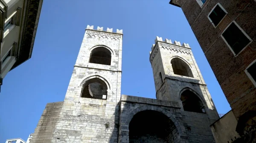
<path fill-rule="evenodd" d="M 122 102 L 139 103 L 139 104 L 147 104 L 147 105 L 157 105 L 157 106 L 163 106 L 163 107 L 172 107 L 172 108 L 180 109 L 178 102 L 157 100 L 157 99 L 151 99 L 151 98 L 143 98 L 143 97 L 130 96 L 130 95 L 122 95 L 121 101 Z"/>

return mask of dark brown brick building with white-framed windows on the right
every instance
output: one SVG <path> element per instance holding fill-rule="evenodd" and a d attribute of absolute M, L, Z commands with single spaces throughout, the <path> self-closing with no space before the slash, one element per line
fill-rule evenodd
<path fill-rule="evenodd" d="M 256 137 L 256 0 L 171 0 L 170 4 L 180 7 L 185 14 L 238 120 L 234 126 L 241 140 L 253 142 L 251 138 Z"/>

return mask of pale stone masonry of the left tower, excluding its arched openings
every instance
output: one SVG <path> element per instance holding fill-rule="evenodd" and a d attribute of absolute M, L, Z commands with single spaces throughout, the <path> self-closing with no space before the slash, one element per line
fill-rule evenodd
<path fill-rule="evenodd" d="M 104 32 L 100 28 L 95 31 L 87 27 L 64 100 L 62 121 L 56 125 L 55 138 L 64 137 L 69 143 L 117 143 L 122 34 L 111 32 L 111 29 Z M 111 51 L 111 65 L 89 63 L 91 50 L 99 46 Z M 83 84 L 92 78 L 106 83 L 107 100 L 81 98 Z"/>

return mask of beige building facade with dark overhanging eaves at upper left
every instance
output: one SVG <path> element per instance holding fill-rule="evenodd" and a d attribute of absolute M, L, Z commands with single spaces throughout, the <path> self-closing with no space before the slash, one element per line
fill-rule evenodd
<path fill-rule="evenodd" d="M 0 0 L 0 86 L 31 58 L 43 0 Z"/>

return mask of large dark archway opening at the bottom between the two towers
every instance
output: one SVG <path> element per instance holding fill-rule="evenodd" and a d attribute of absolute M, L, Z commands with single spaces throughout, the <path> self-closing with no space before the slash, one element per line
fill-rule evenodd
<path fill-rule="evenodd" d="M 177 143 L 177 136 L 174 123 L 158 111 L 141 111 L 129 124 L 129 143 Z"/>

